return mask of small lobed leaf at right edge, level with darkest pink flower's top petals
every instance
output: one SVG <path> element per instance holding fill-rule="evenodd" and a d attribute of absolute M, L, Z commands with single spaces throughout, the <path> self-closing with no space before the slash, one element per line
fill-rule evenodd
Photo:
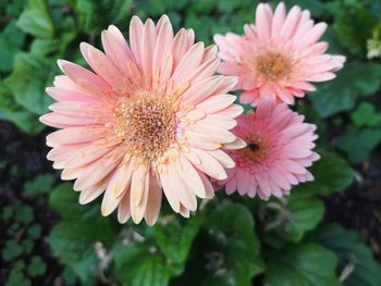
<path fill-rule="evenodd" d="M 381 124 L 381 112 L 376 112 L 374 105 L 368 102 L 362 102 L 351 116 L 358 127 L 376 127 Z"/>

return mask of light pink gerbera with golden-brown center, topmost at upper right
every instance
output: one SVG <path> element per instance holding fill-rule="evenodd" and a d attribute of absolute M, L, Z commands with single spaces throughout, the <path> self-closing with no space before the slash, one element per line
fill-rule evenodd
<path fill-rule="evenodd" d="M 269 4 L 257 8 L 256 24 L 245 25 L 245 35 L 216 35 L 219 72 L 237 75 L 243 89 L 241 101 L 256 105 L 268 98 L 293 104 L 294 97 L 314 91 L 310 82 L 335 77 L 345 58 L 324 54 L 328 43 L 318 42 L 325 23 L 314 24 L 309 11 L 294 7 L 288 14 L 280 3 L 275 12 Z"/>

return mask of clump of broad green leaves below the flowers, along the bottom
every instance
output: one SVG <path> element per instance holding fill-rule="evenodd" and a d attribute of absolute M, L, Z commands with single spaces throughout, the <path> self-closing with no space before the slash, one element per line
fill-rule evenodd
<path fill-rule="evenodd" d="M 284 200 L 251 206 L 216 198 L 189 220 L 162 214 L 152 228 L 101 217 L 98 204 L 79 206 L 71 184 L 62 184 L 50 196 L 62 217 L 50 245 L 84 285 L 105 273 L 122 285 L 251 285 L 261 273 L 269 285 L 308 285 L 311 277 L 316 285 L 339 285 L 335 254 L 306 234 L 324 213 L 316 195 L 342 190 L 352 172 L 333 153 L 323 154 L 315 171 L 310 188 L 306 184 Z M 323 192 L 315 191 L 319 186 Z M 254 217 L 263 225 L 256 225 Z"/>

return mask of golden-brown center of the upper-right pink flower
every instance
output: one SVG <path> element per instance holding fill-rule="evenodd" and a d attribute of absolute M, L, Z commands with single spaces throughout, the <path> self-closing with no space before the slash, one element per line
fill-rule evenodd
<path fill-rule="evenodd" d="M 266 80 L 276 82 L 291 73 L 292 64 L 283 54 L 269 52 L 257 58 L 255 70 Z"/>

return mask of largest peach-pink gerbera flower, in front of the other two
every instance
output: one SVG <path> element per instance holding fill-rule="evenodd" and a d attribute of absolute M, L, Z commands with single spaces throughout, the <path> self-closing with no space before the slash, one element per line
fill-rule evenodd
<path fill-rule="evenodd" d="M 229 132 L 242 108 L 226 92 L 234 77 L 213 76 L 217 48 L 194 42 L 192 29 L 175 36 L 167 16 L 157 25 L 134 16 L 130 46 L 110 26 L 102 33 L 105 52 L 87 45 L 81 51 L 94 72 L 59 61 L 47 92 L 58 103 L 41 116 L 62 128 L 47 137 L 48 159 L 76 179 L 79 202 L 105 192 L 103 215 L 135 223 L 157 221 L 162 190 L 175 212 L 196 210 L 213 196 L 207 176 L 225 178 L 234 162 L 221 148 L 243 145 Z"/>

